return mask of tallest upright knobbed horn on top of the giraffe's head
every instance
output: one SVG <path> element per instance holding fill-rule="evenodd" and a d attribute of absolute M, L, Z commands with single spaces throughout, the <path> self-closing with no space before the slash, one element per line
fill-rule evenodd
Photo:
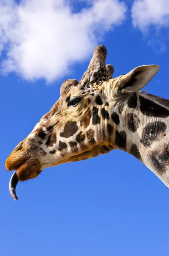
<path fill-rule="evenodd" d="M 98 45 L 94 49 L 93 57 L 90 61 L 87 73 L 91 73 L 93 70 L 99 70 L 105 66 L 107 56 L 107 49 L 104 45 Z"/>

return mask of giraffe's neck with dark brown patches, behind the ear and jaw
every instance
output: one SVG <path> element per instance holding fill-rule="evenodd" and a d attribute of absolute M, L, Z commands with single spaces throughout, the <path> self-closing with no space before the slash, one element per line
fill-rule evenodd
<path fill-rule="evenodd" d="M 118 113 L 115 145 L 134 155 L 169 186 L 169 101 L 139 91 Z"/>

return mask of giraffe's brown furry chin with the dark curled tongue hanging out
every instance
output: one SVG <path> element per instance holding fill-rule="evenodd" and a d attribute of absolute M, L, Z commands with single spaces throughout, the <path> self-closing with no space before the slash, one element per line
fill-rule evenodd
<path fill-rule="evenodd" d="M 14 200 L 18 200 L 16 195 L 16 186 L 19 181 L 29 180 L 36 178 L 42 170 L 39 168 L 39 163 L 28 159 L 23 164 L 16 167 L 16 171 L 11 176 L 9 181 L 9 192 Z"/>

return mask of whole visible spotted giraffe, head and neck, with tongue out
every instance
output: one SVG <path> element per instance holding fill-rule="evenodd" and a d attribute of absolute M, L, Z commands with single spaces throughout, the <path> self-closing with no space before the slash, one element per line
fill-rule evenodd
<path fill-rule="evenodd" d="M 112 78 L 107 49 L 95 48 L 81 81 L 62 83 L 60 97 L 6 160 L 17 200 L 18 181 L 44 168 L 120 149 L 132 154 L 169 187 L 169 100 L 141 91 L 158 65 L 144 65 Z"/>

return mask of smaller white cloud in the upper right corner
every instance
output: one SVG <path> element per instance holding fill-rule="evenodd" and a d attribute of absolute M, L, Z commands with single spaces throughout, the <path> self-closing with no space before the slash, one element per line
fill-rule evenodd
<path fill-rule="evenodd" d="M 142 32 L 151 25 L 158 29 L 169 26 L 169 0 L 135 0 L 131 12 L 133 25 Z"/>

